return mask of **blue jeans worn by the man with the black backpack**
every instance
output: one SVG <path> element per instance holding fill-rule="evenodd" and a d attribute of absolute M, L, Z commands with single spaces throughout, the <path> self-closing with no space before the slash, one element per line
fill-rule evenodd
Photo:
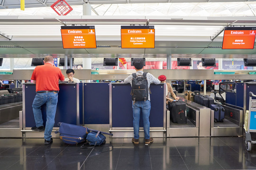
<path fill-rule="evenodd" d="M 133 111 L 133 130 L 134 130 L 134 138 L 139 138 L 139 118 L 140 113 L 142 113 L 143 119 L 143 128 L 145 139 L 149 139 L 149 115 L 150 115 L 151 103 L 150 101 L 136 101 L 132 104 L 132 111 Z"/>

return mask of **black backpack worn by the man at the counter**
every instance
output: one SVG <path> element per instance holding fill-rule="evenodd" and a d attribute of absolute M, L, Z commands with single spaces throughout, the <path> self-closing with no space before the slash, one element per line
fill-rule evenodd
<path fill-rule="evenodd" d="M 147 72 L 143 72 L 143 75 L 137 76 L 136 73 L 132 74 L 132 100 L 135 101 L 147 101 L 148 99 L 148 84 L 146 78 Z"/>

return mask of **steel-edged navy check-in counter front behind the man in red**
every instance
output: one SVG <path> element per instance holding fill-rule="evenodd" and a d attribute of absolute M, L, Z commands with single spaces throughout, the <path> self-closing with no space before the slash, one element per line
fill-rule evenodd
<path fill-rule="evenodd" d="M 58 104 L 54 127 L 58 122 L 82 125 L 82 83 L 59 83 Z M 23 130 L 36 126 L 32 103 L 36 95 L 36 85 L 23 84 Z M 42 105 L 44 126 L 46 123 L 46 104 Z"/>

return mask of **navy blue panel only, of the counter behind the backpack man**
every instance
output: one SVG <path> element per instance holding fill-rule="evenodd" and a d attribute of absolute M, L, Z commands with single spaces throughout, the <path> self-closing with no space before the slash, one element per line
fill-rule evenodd
<path fill-rule="evenodd" d="M 150 127 L 164 127 L 164 85 L 150 85 Z M 112 127 L 133 127 L 130 84 L 112 84 Z M 142 116 L 140 127 L 143 127 Z"/>

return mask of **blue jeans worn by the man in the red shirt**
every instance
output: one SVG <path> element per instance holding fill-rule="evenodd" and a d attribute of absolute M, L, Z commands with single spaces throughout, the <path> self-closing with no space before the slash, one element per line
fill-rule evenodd
<path fill-rule="evenodd" d="M 36 121 L 36 126 L 44 126 L 41 106 L 46 103 L 46 128 L 45 128 L 45 139 L 51 139 L 51 133 L 55 123 L 55 113 L 58 103 L 58 93 L 37 93 L 34 102 L 32 104 L 34 118 Z"/>

